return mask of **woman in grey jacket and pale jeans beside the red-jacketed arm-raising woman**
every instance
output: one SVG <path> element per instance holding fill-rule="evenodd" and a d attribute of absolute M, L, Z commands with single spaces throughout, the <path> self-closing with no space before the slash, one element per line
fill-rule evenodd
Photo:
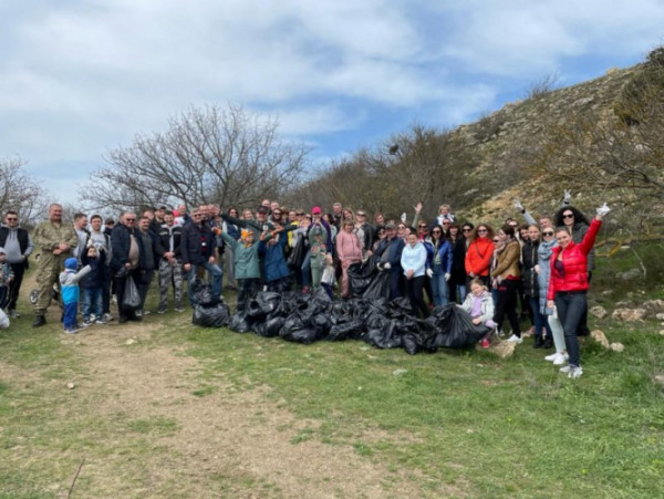
<path fill-rule="evenodd" d="M 553 365 L 562 365 L 568 360 L 568 354 L 564 349 L 564 333 L 562 332 L 562 325 L 558 320 L 558 314 L 553 313 L 553 309 L 547 306 L 547 293 L 549 292 L 549 278 L 551 277 L 551 254 L 553 254 L 553 248 L 558 246 L 558 241 L 554 238 L 554 231 L 552 227 L 544 227 L 542 229 L 542 241 L 537 250 L 537 266 L 535 271 L 537 273 L 537 283 L 539 287 L 539 312 L 544 318 L 544 328 L 547 329 L 547 337 L 553 339 L 556 345 L 556 353 L 547 355 L 547 361 L 553 362 Z"/>

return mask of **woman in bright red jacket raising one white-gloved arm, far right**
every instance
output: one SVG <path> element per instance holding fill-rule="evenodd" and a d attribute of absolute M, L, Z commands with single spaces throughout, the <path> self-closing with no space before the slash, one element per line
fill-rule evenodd
<path fill-rule="evenodd" d="M 610 209 L 604 204 L 598 208 L 598 215 L 590 223 L 588 232 L 580 243 L 572 240 L 568 227 L 556 229 L 558 247 L 551 254 L 551 278 L 547 294 L 547 306 L 556 306 L 558 318 L 564 331 L 564 343 L 570 356 L 570 364 L 560 371 L 569 377 L 583 374 L 580 364 L 579 339 L 577 329 L 588 306 L 588 253 L 594 246 L 595 238 L 602 226 L 602 218 Z"/>

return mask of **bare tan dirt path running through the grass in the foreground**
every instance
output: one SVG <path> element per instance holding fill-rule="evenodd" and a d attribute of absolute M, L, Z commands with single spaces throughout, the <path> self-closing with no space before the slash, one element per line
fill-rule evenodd
<path fill-rule="evenodd" d="M 163 451 L 142 461 L 156 488 L 136 497 L 421 497 L 418 480 L 388 471 L 350 446 L 297 441 L 317 422 L 295 418 L 266 397 L 268 388 L 237 392 L 224 374 L 211 393 L 196 396 L 204 365 L 175 347 L 149 346 L 157 325 L 111 325 L 63 341 L 75 342 L 87 358 L 89 380 L 77 384 L 102 417 L 175 420 L 175 430 L 151 438 Z M 200 395 L 200 394 L 199 394 Z M 295 441 L 292 441 L 295 438 Z M 367 436 L 371 439 L 371 436 Z M 395 437 L 395 438 L 398 438 Z M 104 462 L 89 462 L 84 475 L 102 490 L 121 490 Z M 126 479 L 126 477 L 125 477 Z"/>

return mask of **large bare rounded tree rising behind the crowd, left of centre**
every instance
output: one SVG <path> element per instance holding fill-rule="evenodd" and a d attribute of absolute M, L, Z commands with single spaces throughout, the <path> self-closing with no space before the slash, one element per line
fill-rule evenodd
<path fill-rule="evenodd" d="M 110 150 L 81 197 L 95 208 L 218 202 L 242 206 L 277 197 L 294 183 L 310 148 L 278 135 L 276 119 L 229 105 L 191 107 L 164 133 L 138 134 Z"/>

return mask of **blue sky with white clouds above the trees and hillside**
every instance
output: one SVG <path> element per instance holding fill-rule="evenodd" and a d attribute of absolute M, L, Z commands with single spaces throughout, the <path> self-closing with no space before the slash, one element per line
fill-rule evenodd
<path fill-rule="evenodd" d="M 662 27 L 661 0 L 0 0 L 0 158 L 75 204 L 107 150 L 232 103 L 325 165 L 639 63 Z"/>

